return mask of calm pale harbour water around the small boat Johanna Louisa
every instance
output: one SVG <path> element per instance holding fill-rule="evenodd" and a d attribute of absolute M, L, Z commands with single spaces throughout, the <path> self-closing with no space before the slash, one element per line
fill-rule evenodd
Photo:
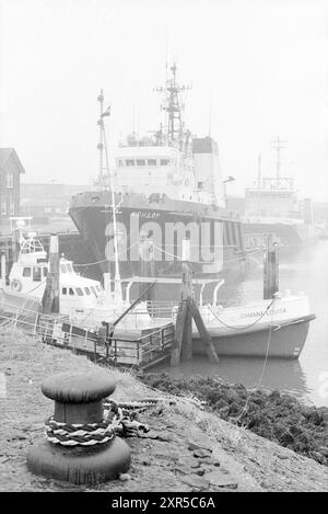
<path fill-rule="evenodd" d="M 251 302 L 262 297 L 261 255 L 256 255 L 245 281 L 223 286 L 220 302 L 233 306 Z M 260 386 L 280 389 L 316 406 L 328 406 L 328 241 L 311 248 L 281 252 L 280 290 L 308 295 L 311 310 L 316 315 L 298 361 L 221 357 L 219 365 L 207 357 L 195 356 L 192 362 L 176 368 L 163 364 L 154 370 L 173 376 L 218 376 L 246 387 Z M 261 380 L 260 380 L 261 378 Z"/>

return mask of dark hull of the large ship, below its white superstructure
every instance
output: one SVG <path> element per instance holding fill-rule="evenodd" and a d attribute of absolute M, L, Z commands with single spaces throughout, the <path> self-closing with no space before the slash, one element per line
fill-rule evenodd
<path fill-rule="evenodd" d="M 81 193 L 72 199 L 69 214 L 83 239 L 93 248 L 95 264 L 89 265 L 89 273 L 110 271 L 113 276 L 110 201 L 108 192 Z M 126 285 L 133 282 L 130 299 L 147 285 L 147 281 L 138 283 L 138 277 L 149 277 L 149 282 L 156 277 L 161 282 L 153 288 L 152 299 L 179 298 L 181 240 L 185 238 L 190 239 L 190 261 L 197 279 L 213 281 L 213 284 L 208 284 L 209 298 L 214 281 L 235 278 L 244 273 L 242 224 L 229 216 L 226 209 L 169 198 L 150 202 L 139 194 L 117 195 L 116 204 L 120 278 Z M 142 237 L 153 243 L 152 259 L 143 259 Z"/>

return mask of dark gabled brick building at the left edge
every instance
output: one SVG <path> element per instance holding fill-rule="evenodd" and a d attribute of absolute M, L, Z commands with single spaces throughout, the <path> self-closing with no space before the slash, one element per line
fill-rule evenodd
<path fill-rule="evenodd" d="M 21 173 L 25 170 L 13 148 L 0 148 L 0 224 L 20 215 Z"/>

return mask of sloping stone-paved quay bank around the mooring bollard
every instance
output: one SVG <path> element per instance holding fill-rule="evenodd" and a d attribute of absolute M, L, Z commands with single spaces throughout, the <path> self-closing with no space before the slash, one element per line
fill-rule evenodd
<path fill-rule="evenodd" d="M 200 409 L 188 400 L 190 392 L 174 404 L 161 402 L 140 413 L 150 431 L 145 437 L 126 438 L 132 452 L 128 480 L 78 487 L 33 476 L 26 467 L 27 448 L 44 437 L 44 420 L 54 410 L 40 391 L 43 379 L 65 370 L 96 372 L 98 366 L 20 332 L 2 330 L 0 341 L 0 372 L 7 379 L 7 395 L 0 398 L 1 491 L 328 491 L 327 466 Z M 113 399 L 163 395 L 129 373 L 102 369 L 117 379 Z"/>

